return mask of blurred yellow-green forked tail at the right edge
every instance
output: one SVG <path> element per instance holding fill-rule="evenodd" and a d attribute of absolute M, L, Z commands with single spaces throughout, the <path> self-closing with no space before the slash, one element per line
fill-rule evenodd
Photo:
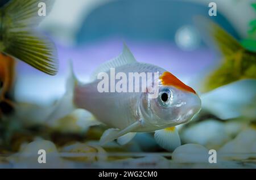
<path fill-rule="evenodd" d="M 224 28 L 208 18 L 197 16 L 197 28 L 210 48 L 222 56 L 221 65 L 212 71 L 200 87 L 201 92 L 208 92 L 222 85 L 240 79 L 255 79 L 256 53 L 247 50 L 236 38 Z"/>

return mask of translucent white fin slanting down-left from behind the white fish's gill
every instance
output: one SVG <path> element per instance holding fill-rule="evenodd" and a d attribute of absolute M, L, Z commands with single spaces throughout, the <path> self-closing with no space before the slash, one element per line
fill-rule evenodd
<path fill-rule="evenodd" d="M 117 128 L 110 128 L 106 130 L 104 134 L 101 136 L 100 144 L 104 145 L 106 143 L 112 142 L 113 140 L 118 139 L 119 137 L 126 135 L 129 132 L 135 131 L 139 126 L 141 126 L 141 122 L 136 121 L 132 125 L 124 128 L 123 130 L 119 130 Z M 127 140 L 125 140 L 125 142 L 127 142 Z"/>

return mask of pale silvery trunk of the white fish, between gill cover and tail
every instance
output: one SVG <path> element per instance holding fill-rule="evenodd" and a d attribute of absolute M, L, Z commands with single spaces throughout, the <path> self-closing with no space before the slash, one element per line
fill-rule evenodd
<path fill-rule="evenodd" d="M 129 72 L 163 71 L 162 68 L 144 63 L 131 63 L 115 68 L 115 73 L 123 72 L 129 76 Z M 110 71 L 107 72 L 110 77 Z M 142 92 L 98 92 L 98 84 L 101 80 L 94 80 L 92 83 L 77 86 L 75 88 L 74 102 L 78 108 L 89 110 L 94 116 L 105 125 L 123 129 L 141 118 L 139 109 Z M 139 82 L 139 83 L 142 83 Z M 127 82 L 127 87 L 128 87 Z M 141 84 L 140 84 L 141 85 Z M 100 112 L 99 112 L 100 110 Z M 138 131 L 152 131 L 150 128 L 141 128 Z"/>

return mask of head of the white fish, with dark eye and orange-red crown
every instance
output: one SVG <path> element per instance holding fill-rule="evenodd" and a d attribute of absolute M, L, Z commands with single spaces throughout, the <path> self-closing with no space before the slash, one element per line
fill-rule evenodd
<path fill-rule="evenodd" d="M 159 80 L 158 96 L 145 96 L 142 100 L 141 109 L 147 121 L 159 128 L 191 121 L 201 109 L 201 100 L 197 93 L 170 72 L 164 72 Z"/>

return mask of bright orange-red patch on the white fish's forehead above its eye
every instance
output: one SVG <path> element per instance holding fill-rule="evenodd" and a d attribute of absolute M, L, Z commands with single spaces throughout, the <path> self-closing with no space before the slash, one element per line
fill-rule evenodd
<path fill-rule="evenodd" d="M 163 85 L 172 85 L 178 89 L 184 90 L 184 91 L 188 91 L 188 92 L 192 92 L 195 93 L 195 90 L 192 89 L 191 87 L 189 87 L 188 85 L 185 85 L 183 82 L 181 82 L 179 79 L 176 78 L 176 76 L 174 76 L 173 74 L 171 74 L 170 72 L 164 72 L 160 78 L 159 78 L 162 82 Z"/>

